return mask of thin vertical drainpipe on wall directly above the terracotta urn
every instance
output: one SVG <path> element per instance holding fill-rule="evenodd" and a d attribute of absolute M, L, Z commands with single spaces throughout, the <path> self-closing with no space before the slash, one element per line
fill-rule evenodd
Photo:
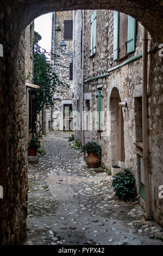
<path fill-rule="evenodd" d="M 82 96 L 81 96 L 81 111 L 82 111 L 82 146 L 84 145 L 84 26 L 85 26 L 85 10 L 82 11 Z"/>

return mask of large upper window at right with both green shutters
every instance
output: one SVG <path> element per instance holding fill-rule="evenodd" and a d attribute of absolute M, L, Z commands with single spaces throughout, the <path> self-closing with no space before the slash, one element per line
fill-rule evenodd
<path fill-rule="evenodd" d="M 114 60 L 134 52 L 136 47 L 136 20 L 114 11 Z"/>

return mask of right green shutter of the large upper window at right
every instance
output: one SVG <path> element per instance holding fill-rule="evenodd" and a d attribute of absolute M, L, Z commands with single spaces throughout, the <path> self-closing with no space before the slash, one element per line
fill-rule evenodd
<path fill-rule="evenodd" d="M 127 53 L 134 52 L 136 47 L 136 20 L 128 15 Z"/>

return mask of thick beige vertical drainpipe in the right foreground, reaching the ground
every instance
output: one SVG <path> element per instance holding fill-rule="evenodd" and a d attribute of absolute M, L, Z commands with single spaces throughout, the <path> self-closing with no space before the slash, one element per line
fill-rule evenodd
<path fill-rule="evenodd" d="M 146 220 L 151 216 L 149 166 L 148 166 L 148 123 L 147 123 L 147 70 L 148 70 L 148 31 L 143 27 L 142 55 L 142 132 L 143 132 L 143 169 L 145 173 Z"/>

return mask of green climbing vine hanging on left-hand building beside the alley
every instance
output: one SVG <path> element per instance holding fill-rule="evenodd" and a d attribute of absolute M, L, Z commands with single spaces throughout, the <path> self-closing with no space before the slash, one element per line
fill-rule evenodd
<path fill-rule="evenodd" d="M 35 39 L 33 44 L 34 52 L 34 84 L 39 86 L 39 89 L 35 90 L 35 127 L 33 130 L 33 137 L 37 137 L 38 127 L 38 115 L 41 109 L 45 106 L 49 108 L 53 105 L 52 96 L 54 92 L 61 92 L 62 88 L 69 88 L 68 84 L 61 82 L 59 77 L 52 69 L 51 64 L 47 63 L 46 56 L 58 57 L 57 54 L 49 53 L 45 49 L 42 49 L 38 41 L 41 36 L 35 32 Z"/>

